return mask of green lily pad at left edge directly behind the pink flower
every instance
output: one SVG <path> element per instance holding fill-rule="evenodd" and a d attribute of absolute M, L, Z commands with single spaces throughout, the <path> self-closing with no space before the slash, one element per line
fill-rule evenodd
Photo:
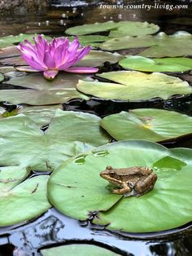
<path fill-rule="evenodd" d="M 50 37 L 41 35 L 43 38 L 51 39 Z M 28 39 L 28 41 L 33 41 L 33 38 L 37 37 L 37 34 L 28 34 L 28 33 L 20 33 L 17 36 L 7 36 L 0 38 L 0 48 L 4 48 L 7 46 L 13 46 L 16 43 L 24 41 L 24 39 Z"/>

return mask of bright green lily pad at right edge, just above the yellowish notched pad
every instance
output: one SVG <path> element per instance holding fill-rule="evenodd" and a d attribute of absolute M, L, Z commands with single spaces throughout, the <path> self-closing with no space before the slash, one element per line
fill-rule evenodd
<path fill-rule="evenodd" d="M 145 72 L 183 72 L 192 69 L 190 58 L 148 59 L 142 56 L 126 56 L 119 62 L 123 68 Z"/>

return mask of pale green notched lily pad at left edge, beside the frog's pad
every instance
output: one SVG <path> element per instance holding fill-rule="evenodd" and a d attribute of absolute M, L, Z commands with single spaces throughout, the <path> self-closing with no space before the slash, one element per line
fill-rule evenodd
<path fill-rule="evenodd" d="M 0 167 L 0 227 L 36 218 L 50 208 L 49 176 L 26 179 L 29 172 L 20 166 Z"/>

